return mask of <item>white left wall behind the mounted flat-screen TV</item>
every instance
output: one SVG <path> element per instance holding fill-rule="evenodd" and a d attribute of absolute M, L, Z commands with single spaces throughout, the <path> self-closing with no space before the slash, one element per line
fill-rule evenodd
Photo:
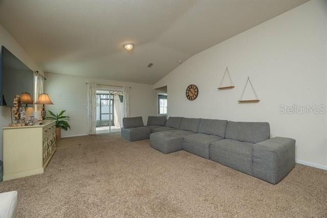
<path fill-rule="evenodd" d="M 31 57 L 24 51 L 18 42 L 8 33 L 8 31 L 0 24 L 0 47 L 5 46 L 11 53 L 13 53 L 19 60 L 26 64 L 33 71 L 43 72 L 37 67 Z M 3 160 L 3 131 L 2 128 L 11 123 L 10 107 L 0 106 L 0 160 Z"/>

